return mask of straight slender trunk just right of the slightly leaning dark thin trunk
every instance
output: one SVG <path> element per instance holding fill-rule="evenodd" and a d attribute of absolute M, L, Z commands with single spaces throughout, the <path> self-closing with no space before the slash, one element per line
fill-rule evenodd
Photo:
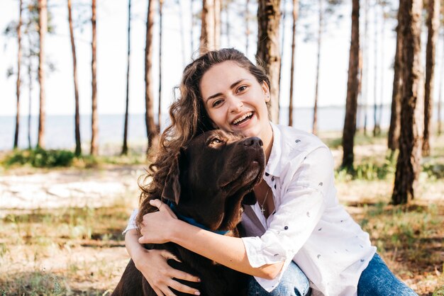
<path fill-rule="evenodd" d="M 92 0 L 91 5 L 92 17 L 92 59 L 91 59 L 91 73 L 92 73 L 92 108 L 91 108 L 91 155 L 97 155 L 98 147 L 98 133 L 99 133 L 99 115 L 97 114 L 97 81 L 96 81 L 96 0 Z"/>

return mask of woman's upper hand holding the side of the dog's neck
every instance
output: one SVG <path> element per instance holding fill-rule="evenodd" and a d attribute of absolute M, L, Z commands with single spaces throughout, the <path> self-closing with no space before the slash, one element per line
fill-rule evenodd
<path fill-rule="evenodd" d="M 177 222 L 177 217 L 171 208 L 161 200 L 150 200 L 150 205 L 159 209 L 159 212 L 150 212 L 143 216 L 140 224 L 140 244 L 165 244 L 171 240 L 168 230 L 174 229 L 172 224 Z"/>

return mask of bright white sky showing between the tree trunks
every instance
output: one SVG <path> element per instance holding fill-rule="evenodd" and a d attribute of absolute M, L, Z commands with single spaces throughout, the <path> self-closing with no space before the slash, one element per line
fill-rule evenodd
<path fill-rule="evenodd" d="M 84 1 L 84 0 L 83 0 Z M 78 1 L 73 1 L 75 5 Z M 145 81 L 144 81 L 144 54 L 145 54 L 145 18 L 147 2 L 145 0 L 133 0 L 131 23 L 131 74 L 130 74 L 130 113 L 145 112 Z M 163 13 L 162 35 L 162 110 L 164 112 L 173 98 L 173 88 L 180 81 L 184 64 L 191 62 L 192 52 L 196 51 L 199 38 L 199 24 L 194 28 L 194 49 L 191 48 L 190 37 L 190 4 L 184 1 L 165 1 Z M 199 11 L 200 2 L 194 1 L 194 12 Z M 288 106 L 289 79 L 291 61 L 292 15 L 291 4 L 287 1 L 287 11 L 290 13 L 285 18 L 284 52 L 282 57 L 282 84 L 281 106 Z M 4 31 L 6 25 L 18 19 L 18 1 L 1 0 L 0 30 Z M 47 57 L 55 64 L 55 72 L 46 76 L 46 112 L 48 115 L 74 114 L 74 86 L 72 81 L 72 53 L 69 28 L 67 23 L 66 1 L 50 0 L 50 9 L 55 25 L 55 34 L 47 35 Z M 235 6 L 233 6 L 234 8 Z M 255 6 L 250 6 L 250 11 L 255 15 Z M 240 8 L 239 8 L 240 10 Z M 89 8 L 74 7 L 74 21 L 90 17 Z M 321 46 L 321 72 L 319 81 L 318 106 L 343 106 L 345 105 L 348 56 L 350 49 L 350 13 L 351 4 L 340 8 L 343 20 L 340 23 L 331 21 L 326 25 L 323 44 Z M 372 18 L 370 11 L 370 18 Z M 222 16 L 223 20 L 226 16 Z M 362 18 L 362 14 L 361 14 Z M 99 114 L 122 114 L 125 110 L 126 100 L 126 52 L 128 32 L 128 2 L 121 0 L 97 1 L 97 97 Z M 239 21 L 240 17 L 231 13 L 230 43 L 226 36 L 222 36 L 222 47 L 235 47 L 245 52 L 245 28 Z M 301 21 L 302 22 L 302 21 Z M 311 40 L 304 42 L 306 33 L 304 26 L 299 25 L 296 41 L 296 76 L 294 83 L 294 105 L 297 107 L 311 107 L 314 103 L 315 78 L 316 78 L 316 32 L 317 16 L 307 16 L 305 23 L 312 24 Z M 155 110 L 157 110 L 158 97 L 158 17 L 155 19 L 153 42 L 153 81 L 155 95 Z M 389 104 L 392 100 L 393 58 L 395 50 L 394 21 L 389 21 L 385 30 L 384 57 L 382 51 L 377 52 L 379 60 L 384 59 L 383 65 L 377 69 L 377 100 Z M 250 25 L 250 28 L 252 25 Z M 183 33 L 181 32 L 183 28 Z M 369 59 L 373 64 L 374 44 L 382 45 L 381 34 L 374 39 L 374 21 L 369 22 Z M 381 30 L 381 23 L 376 28 Z M 222 30 L 224 30 L 222 28 Z M 254 60 L 256 41 L 256 28 L 250 36 L 250 50 L 247 55 Z M 315 34 L 315 35 L 313 35 Z M 85 23 L 82 28 L 75 28 L 74 35 L 77 47 L 77 71 L 79 77 L 80 113 L 91 113 L 91 24 Z M 182 47 L 184 46 L 184 55 Z M 438 50 L 437 52 L 440 52 Z M 0 35 L 0 115 L 14 115 L 16 113 L 16 77 L 6 77 L 6 71 L 10 67 L 16 69 L 17 60 L 16 39 L 6 38 Z M 423 59 L 424 61 L 424 59 Z M 373 67 L 373 66 L 372 66 Z M 369 69 L 368 75 L 368 101 L 374 100 L 374 69 Z M 22 69 L 24 75 L 25 69 Z M 381 86 L 383 89 L 381 89 Z M 435 88 L 435 91 L 438 88 Z M 21 91 L 21 114 L 28 114 L 28 81 L 23 81 Z M 38 84 L 34 82 L 32 93 L 33 115 L 38 114 Z"/>

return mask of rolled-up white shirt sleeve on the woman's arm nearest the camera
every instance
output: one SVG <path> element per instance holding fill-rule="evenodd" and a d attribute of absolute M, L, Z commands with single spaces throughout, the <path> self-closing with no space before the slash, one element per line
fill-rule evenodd
<path fill-rule="evenodd" d="M 245 237 L 243 243 L 252 267 L 284 261 L 274 280 L 256 278 L 265 290 L 279 283 L 283 272 L 309 239 L 326 209 L 328 190 L 334 190 L 333 156 L 328 147 L 319 147 L 297 157 L 282 178 L 280 200 L 262 237 Z M 296 168 L 293 169 L 292 168 Z M 288 181 L 286 181 L 288 180 Z"/>

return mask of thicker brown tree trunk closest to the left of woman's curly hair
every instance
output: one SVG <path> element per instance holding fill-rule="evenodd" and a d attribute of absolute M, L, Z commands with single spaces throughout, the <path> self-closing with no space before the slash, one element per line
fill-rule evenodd
<path fill-rule="evenodd" d="M 146 38 L 145 38 L 145 125 L 147 128 L 148 150 L 153 146 L 153 142 L 157 135 L 157 128 L 154 123 L 152 94 L 152 28 L 154 26 L 154 1 L 148 1 L 148 13 L 146 22 Z"/>

